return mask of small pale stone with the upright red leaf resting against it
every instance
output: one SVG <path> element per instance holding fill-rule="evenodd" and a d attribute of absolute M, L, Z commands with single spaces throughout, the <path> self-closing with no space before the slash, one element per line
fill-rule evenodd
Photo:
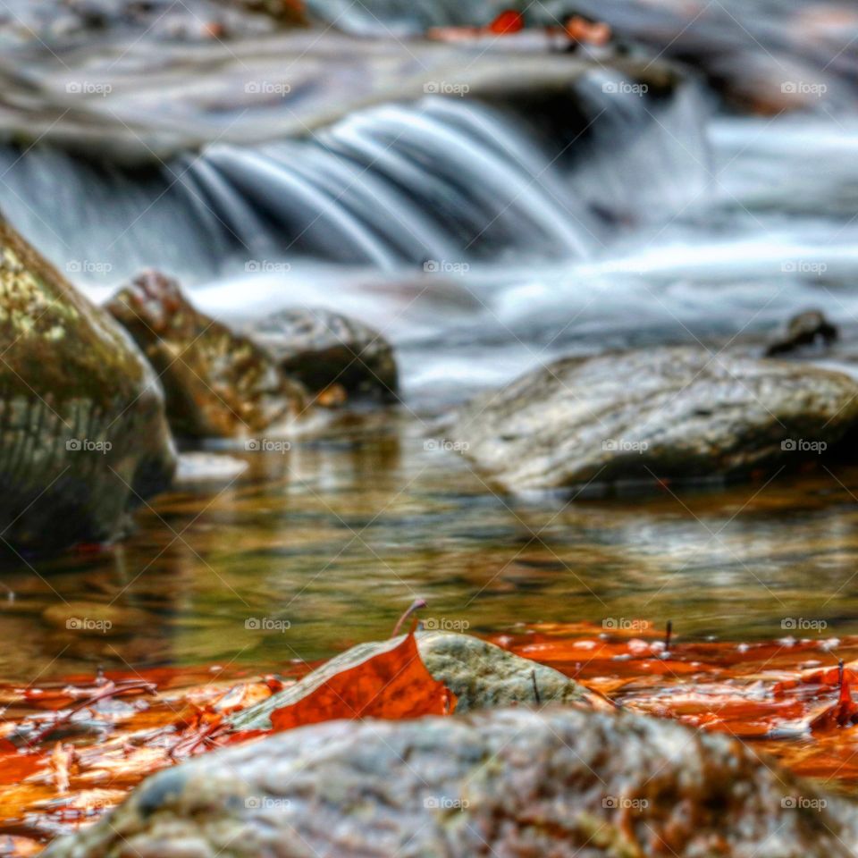
<path fill-rule="evenodd" d="M 426 669 L 456 694 L 458 714 L 497 708 L 514 703 L 580 702 L 595 707 L 610 706 L 558 670 L 523 659 L 473 635 L 453 632 L 418 632 L 417 649 Z M 275 709 L 297 702 L 341 671 L 387 652 L 402 641 L 358 644 L 327 661 L 297 685 L 240 712 L 233 719 L 238 728 L 270 728 Z M 538 699 L 537 699 L 538 695 Z"/>

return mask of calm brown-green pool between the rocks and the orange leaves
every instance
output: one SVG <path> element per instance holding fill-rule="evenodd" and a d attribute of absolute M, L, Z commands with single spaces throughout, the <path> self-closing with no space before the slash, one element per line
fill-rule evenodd
<path fill-rule="evenodd" d="M 417 595 L 424 619 L 478 633 L 671 618 L 736 639 L 805 618 L 858 634 L 858 470 L 563 506 L 495 495 L 410 416 L 378 425 L 242 452 L 233 484 L 158 499 L 111 551 L 8 566 L 0 676 L 275 669 L 389 635 Z"/>

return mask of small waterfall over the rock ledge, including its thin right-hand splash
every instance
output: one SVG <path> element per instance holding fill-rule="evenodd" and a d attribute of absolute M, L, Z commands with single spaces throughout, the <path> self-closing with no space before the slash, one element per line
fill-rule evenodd
<path fill-rule="evenodd" d="M 156 266 L 191 284 L 298 259 L 384 271 L 583 259 L 618 226 L 676 211 L 699 180 L 687 153 L 705 158 L 694 88 L 644 105 L 605 82 L 543 105 L 559 114 L 550 132 L 536 110 L 425 97 L 134 169 L 4 147 L 0 204 L 79 282 Z"/>

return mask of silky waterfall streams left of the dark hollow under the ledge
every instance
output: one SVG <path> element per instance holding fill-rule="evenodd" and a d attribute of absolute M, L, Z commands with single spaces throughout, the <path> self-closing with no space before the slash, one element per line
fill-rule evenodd
<path fill-rule="evenodd" d="M 583 257 L 592 218 L 556 198 L 563 181 L 541 145 L 490 107 L 429 97 L 148 169 L 7 147 L 0 174 L 8 216 L 84 279 L 156 265 L 193 282 L 262 257 L 388 270 L 490 252 Z"/>

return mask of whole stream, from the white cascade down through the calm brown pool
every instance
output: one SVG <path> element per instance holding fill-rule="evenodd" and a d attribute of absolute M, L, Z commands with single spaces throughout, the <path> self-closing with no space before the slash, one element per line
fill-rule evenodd
<path fill-rule="evenodd" d="M 361 8 L 408 29 L 469 5 Z M 346 23 L 371 29 L 355 9 Z M 812 58 L 790 41 L 796 9 L 742 13 L 790 69 Z M 4 212 L 93 297 L 152 265 L 233 323 L 333 307 L 390 337 L 403 374 L 400 407 L 282 455 L 231 450 L 248 471 L 156 499 L 121 545 L 4 568 L 0 674 L 273 668 L 386 636 L 418 596 L 425 618 L 477 632 L 644 618 L 693 636 L 778 637 L 798 619 L 858 633 L 858 471 L 560 504 L 498 495 L 427 440 L 470 393 L 572 351 L 720 348 L 809 306 L 854 324 L 848 57 L 800 116 L 727 114 L 694 80 L 643 98 L 596 71 L 575 116 L 430 95 L 146 168 L 0 150 Z M 67 627 L 105 606 L 109 630 Z"/>

